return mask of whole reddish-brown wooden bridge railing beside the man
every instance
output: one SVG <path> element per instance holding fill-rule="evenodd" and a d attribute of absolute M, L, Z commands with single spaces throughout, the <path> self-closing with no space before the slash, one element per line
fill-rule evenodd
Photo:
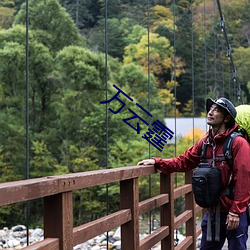
<path fill-rule="evenodd" d="M 44 240 L 25 250 L 72 250 L 101 233 L 121 227 L 122 250 L 148 250 L 161 241 L 161 249 L 196 249 L 196 238 L 201 233 L 196 226 L 195 205 L 186 173 L 186 184 L 174 189 L 173 174 L 160 174 L 160 194 L 139 202 L 138 178 L 156 173 L 153 166 L 132 166 L 48 176 L 0 184 L 0 206 L 43 198 Z M 73 227 L 72 192 L 78 189 L 120 183 L 120 210 L 89 223 Z M 185 196 L 185 212 L 174 217 L 174 200 Z M 160 227 L 139 239 L 139 216 L 160 207 Z M 186 224 L 185 239 L 174 247 L 174 230 Z"/>

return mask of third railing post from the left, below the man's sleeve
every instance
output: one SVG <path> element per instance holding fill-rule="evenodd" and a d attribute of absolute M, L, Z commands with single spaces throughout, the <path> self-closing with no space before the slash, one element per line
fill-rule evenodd
<path fill-rule="evenodd" d="M 169 235 L 161 241 L 162 250 L 174 249 L 174 177 L 160 174 L 160 192 L 169 195 L 169 202 L 161 206 L 161 226 L 169 227 Z"/>

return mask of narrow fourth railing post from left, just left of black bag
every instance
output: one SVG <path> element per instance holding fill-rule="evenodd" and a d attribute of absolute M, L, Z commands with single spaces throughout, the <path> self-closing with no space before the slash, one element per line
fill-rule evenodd
<path fill-rule="evenodd" d="M 191 184 L 192 172 L 185 173 L 186 184 Z M 186 222 L 186 236 L 193 237 L 193 244 L 188 250 L 196 249 L 196 212 L 193 192 L 185 195 L 185 210 L 192 210 L 192 217 Z"/>

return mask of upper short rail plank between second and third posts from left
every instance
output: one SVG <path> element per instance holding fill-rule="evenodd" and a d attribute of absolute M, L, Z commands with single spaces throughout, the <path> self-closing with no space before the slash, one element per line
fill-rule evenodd
<path fill-rule="evenodd" d="M 168 203 L 168 201 L 169 201 L 168 194 L 160 194 L 145 201 L 141 201 L 139 203 L 139 209 L 140 209 L 139 214 L 143 215 L 157 207 L 160 207 Z"/>

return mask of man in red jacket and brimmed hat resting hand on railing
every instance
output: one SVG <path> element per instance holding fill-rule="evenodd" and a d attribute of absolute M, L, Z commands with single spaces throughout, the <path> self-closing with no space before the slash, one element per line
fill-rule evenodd
<path fill-rule="evenodd" d="M 138 165 L 155 165 L 165 174 L 186 172 L 198 166 L 202 152 L 202 144 L 207 144 L 206 159 L 214 162 L 215 167 L 221 169 L 221 185 L 226 189 L 230 176 L 234 185 L 233 198 L 223 193 L 220 197 L 220 237 L 215 240 L 214 212 L 212 218 L 212 241 L 207 241 L 208 213 L 202 219 L 201 250 L 222 249 L 225 239 L 228 239 L 229 250 L 247 249 L 248 217 L 247 206 L 250 201 L 250 146 L 249 143 L 237 136 L 232 144 L 233 170 L 225 160 L 213 161 L 223 157 L 223 144 L 228 135 L 238 130 L 235 124 L 236 109 L 226 98 L 217 100 L 207 99 L 207 124 L 210 129 L 206 136 L 195 145 L 187 149 L 183 155 L 171 159 L 153 158 L 140 161 Z"/>

